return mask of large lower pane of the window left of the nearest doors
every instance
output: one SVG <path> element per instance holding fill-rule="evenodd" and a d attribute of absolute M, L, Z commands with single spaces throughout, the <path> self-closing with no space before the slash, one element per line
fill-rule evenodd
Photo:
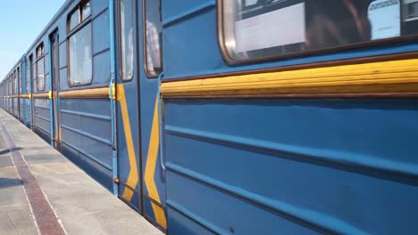
<path fill-rule="evenodd" d="M 88 85 L 92 80 L 91 24 L 69 38 L 69 84 Z"/>

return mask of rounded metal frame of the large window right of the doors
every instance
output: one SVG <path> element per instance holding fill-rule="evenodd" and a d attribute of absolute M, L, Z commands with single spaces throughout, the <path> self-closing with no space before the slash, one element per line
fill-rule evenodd
<path fill-rule="evenodd" d="M 266 56 L 266 57 L 260 57 L 260 58 L 249 58 L 249 59 L 240 60 L 240 59 L 233 58 L 233 56 L 231 56 L 231 54 L 229 53 L 230 51 L 229 48 L 227 47 L 227 43 L 226 43 L 227 38 L 225 36 L 225 31 L 224 31 L 225 29 L 224 28 L 225 15 L 224 15 L 224 9 L 223 9 L 224 1 L 225 0 L 216 0 L 217 32 L 218 32 L 218 44 L 221 48 L 222 58 L 229 65 L 239 65 L 239 64 L 245 65 L 245 64 L 252 64 L 252 63 L 257 63 L 257 62 L 274 61 L 274 60 L 279 60 L 279 59 L 287 60 L 287 59 L 294 59 L 298 57 L 300 58 L 302 56 L 315 56 L 321 53 L 340 53 L 340 52 L 345 52 L 345 51 L 352 51 L 354 49 L 359 49 L 359 48 L 365 49 L 365 48 L 377 47 L 380 45 L 397 44 L 397 43 L 402 43 L 402 42 L 418 39 L 418 34 L 407 35 L 407 36 L 395 36 L 395 37 L 371 40 L 368 42 L 330 46 L 326 48 L 300 52 L 300 53 L 288 53 L 284 55 L 272 55 L 272 56 Z M 230 0 L 226 0 L 226 1 L 230 1 Z M 268 50 L 269 48 L 265 48 L 265 49 Z"/>

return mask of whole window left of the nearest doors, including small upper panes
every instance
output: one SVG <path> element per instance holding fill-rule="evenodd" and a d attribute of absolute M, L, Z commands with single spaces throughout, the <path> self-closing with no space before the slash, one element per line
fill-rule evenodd
<path fill-rule="evenodd" d="M 79 5 L 76 12 L 80 12 L 81 15 L 79 23 L 83 22 L 91 15 L 90 4 Z M 69 21 L 71 18 L 72 15 Z M 88 22 L 82 28 L 77 28 L 77 31 L 71 29 L 69 28 L 71 36 L 68 38 L 69 85 L 88 85 L 93 77 L 91 23 Z"/>

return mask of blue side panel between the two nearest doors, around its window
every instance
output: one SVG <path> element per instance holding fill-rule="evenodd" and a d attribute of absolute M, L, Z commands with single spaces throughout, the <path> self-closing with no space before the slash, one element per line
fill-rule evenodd
<path fill-rule="evenodd" d="M 67 16 L 77 5 L 74 2 L 59 20 L 59 142 L 61 150 L 73 162 L 100 182 L 107 190 L 113 188 L 112 115 L 109 100 L 110 45 L 107 1 L 89 2 L 91 16 L 86 26 L 91 28 L 92 77 L 88 85 L 70 85 L 67 40 Z M 83 29 L 81 29 L 83 30 Z M 76 32 L 77 35 L 79 32 Z M 74 66 L 74 65 L 73 65 Z M 74 77 L 74 76 L 73 76 Z M 86 77 L 83 77 L 86 78 Z M 73 78 L 76 79 L 76 78 Z M 96 95 L 84 97 L 79 91 Z M 67 94 L 67 95 L 65 95 Z"/>

